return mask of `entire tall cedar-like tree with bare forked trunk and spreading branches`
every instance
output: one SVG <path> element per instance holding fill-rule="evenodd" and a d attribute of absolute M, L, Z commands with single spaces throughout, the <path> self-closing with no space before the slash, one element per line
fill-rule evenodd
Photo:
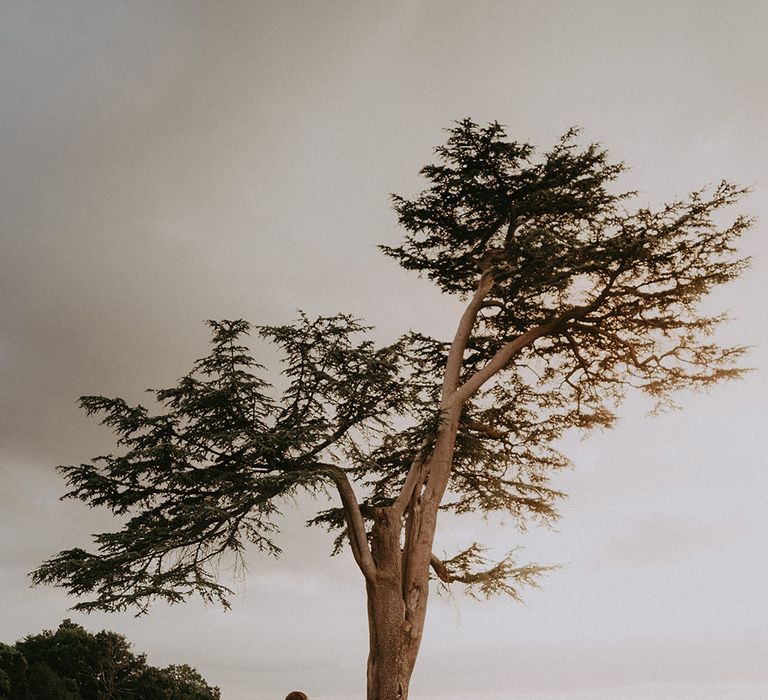
<path fill-rule="evenodd" d="M 256 326 L 282 351 L 280 393 L 245 345 L 251 327 L 209 322 L 210 354 L 153 391 L 157 410 L 81 399 L 120 452 L 61 467 L 67 496 L 127 519 L 35 582 L 86 596 L 80 610 L 146 611 L 193 592 L 226 605 L 217 560 L 246 541 L 278 554 L 281 502 L 330 488 L 338 505 L 310 523 L 349 544 L 365 581 L 368 698 L 404 699 L 430 574 L 518 597 L 542 571 L 486 561 L 479 544 L 439 559 L 441 510 L 551 521 L 566 431 L 610 426 L 632 389 L 665 406 L 739 376 L 743 350 L 712 341 L 723 317 L 699 302 L 746 265 L 733 246 L 750 220 L 719 218 L 743 189 L 631 210 L 633 193 L 615 188 L 623 166 L 573 130 L 537 154 L 464 120 L 436 153 L 426 189 L 394 197 L 405 239 L 382 250 L 464 302 L 453 339 L 412 332 L 376 348 L 346 315 Z"/>

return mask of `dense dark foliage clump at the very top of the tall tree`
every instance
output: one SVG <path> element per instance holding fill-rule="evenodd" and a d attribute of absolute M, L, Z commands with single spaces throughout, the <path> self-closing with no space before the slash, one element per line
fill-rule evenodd
<path fill-rule="evenodd" d="M 609 163 L 598 146 L 579 150 L 577 135 L 568 131 L 536 158 L 533 146 L 507 141 L 496 122 L 459 122 L 435 149 L 440 162 L 421 170 L 429 188 L 414 200 L 393 196 L 408 233 L 403 246 L 382 249 L 460 294 L 474 289 L 477 270 L 498 255 L 510 263 L 505 286 L 524 291 L 535 307 L 571 271 L 588 267 L 579 239 L 628 196 L 608 190 L 623 165 Z"/>

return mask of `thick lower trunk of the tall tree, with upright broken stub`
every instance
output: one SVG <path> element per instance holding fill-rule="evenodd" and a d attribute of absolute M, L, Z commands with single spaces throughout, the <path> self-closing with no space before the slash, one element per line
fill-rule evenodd
<path fill-rule="evenodd" d="M 366 587 L 368 700 L 407 700 L 424 630 L 429 569 L 404 578 L 402 529 L 402 520 L 392 509 L 377 510 L 371 538 L 377 573 Z M 411 583 L 404 585 L 406 579 Z"/>

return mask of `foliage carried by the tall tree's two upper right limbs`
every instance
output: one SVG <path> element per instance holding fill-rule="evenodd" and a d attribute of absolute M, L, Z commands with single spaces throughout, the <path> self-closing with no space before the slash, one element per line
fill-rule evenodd
<path fill-rule="evenodd" d="M 492 275 L 466 373 L 562 317 L 530 354 L 545 379 L 566 389 L 576 379 L 564 403 L 628 385 L 662 395 L 723 378 L 730 352 L 700 342 L 722 319 L 696 307 L 746 265 L 734 242 L 750 219 L 715 220 L 743 188 L 723 182 L 658 211 L 628 211 L 630 195 L 608 189 L 623 166 L 596 145 L 579 149 L 576 131 L 538 159 L 529 144 L 505 141 L 495 123 L 465 120 L 449 133 L 437 149 L 441 163 L 422 170 L 431 185 L 413 200 L 395 197 L 408 233 L 402 246 L 383 250 L 449 292 L 466 294 L 478 272 Z M 523 383 L 541 393 L 530 377 Z"/>

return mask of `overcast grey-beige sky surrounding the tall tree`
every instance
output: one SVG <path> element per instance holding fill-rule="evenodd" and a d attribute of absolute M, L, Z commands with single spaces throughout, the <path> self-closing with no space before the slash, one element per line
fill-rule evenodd
<path fill-rule="evenodd" d="M 0 4 L 0 641 L 69 616 L 225 700 L 362 697 L 362 583 L 302 528 L 310 504 L 287 505 L 285 555 L 251 557 L 230 612 L 86 617 L 27 572 L 110 527 L 57 500 L 55 465 L 111 445 L 77 397 L 172 384 L 204 319 L 451 334 L 455 302 L 375 246 L 398 241 L 389 193 L 417 192 L 470 116 L 542 147 L 583 127 L 643 205 L 751 186 L 754 264 L 712 308 L 756 370 L 566 441 L 557 533 L 445 520 L 448 551 L 562 568 L 526 605 L 433 598 L 412 698 L 768 697 L 767 27 L 757 0 Z"/>

